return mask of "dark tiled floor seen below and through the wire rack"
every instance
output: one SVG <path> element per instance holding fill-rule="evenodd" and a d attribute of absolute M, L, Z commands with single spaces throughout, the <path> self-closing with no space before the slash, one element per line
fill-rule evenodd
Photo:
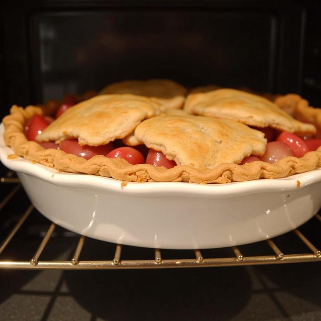
<path fill-rule="evenodd" d="M 14 224 L 11 218 L 19 217 L 20 207 L 28 204 L 23 192 L 18 199 L 18 204 L 8 203 L 1 212 L 0 242 Z M 39 213 L 33 213 L 0 259 L 30 259 L 48 224 Z M 311 230 L 314 225 L 312 222 L 302 230 Z M 319 248 L 320 235 L 314 231 L 312 236 Z M 77 240 L 72 233 L 57 228 L 41 258 L 70 259 Z M 294 245 L 296 249 L 300 246 L 295 236 L 276 240 L 286 253 Z M 260 242 L 240 249 L 243 254 L 247 250 L 261 253 L 263 245 Z M 110 259 L 114 249 L 110 243 L 87 239 L 81 259 Z M 224 249 L 219 252 L 202 253 L 224 255 Z M 153 252 L 125 247 L 122 255 L 127 259 L 150 258 Z M 174 254 L 164 251 L 164 255 Z M 319 321 L 320 268 L 317 262 L 161 270 L 0 270 L 0 320 Z"/>

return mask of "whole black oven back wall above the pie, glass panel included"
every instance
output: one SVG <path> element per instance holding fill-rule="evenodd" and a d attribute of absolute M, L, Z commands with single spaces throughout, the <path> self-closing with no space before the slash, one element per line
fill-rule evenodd
<path fill-rule="evenodd" d="M 13 103 L 126 79 L 313 91 L 317 79 L 304 73 L 304 55 L 315 46 L 316 31 L 304 46 L 315 7 L 293 1 L 6 1 L 1 114 Z M 314 63 L 309 60 L 311 71 Z"/>

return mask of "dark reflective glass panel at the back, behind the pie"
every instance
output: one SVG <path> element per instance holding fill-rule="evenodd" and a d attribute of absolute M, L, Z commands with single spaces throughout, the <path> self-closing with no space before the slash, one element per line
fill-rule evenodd
<path fill-rule="evenodd" d="M 148 78 L 272 91 L 276 24 L 268 11 L 38 13 L 31 24 L 37 99 Z"/>

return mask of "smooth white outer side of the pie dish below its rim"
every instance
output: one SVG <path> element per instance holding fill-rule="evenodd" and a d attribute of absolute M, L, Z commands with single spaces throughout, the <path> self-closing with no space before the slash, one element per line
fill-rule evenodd
<path fill-rule="evenodd" d="M 95 239 L 141 247 L 196 249 L 260 241 L 298 227 L 321 206 L 321 182 L 292 192 L 204 199 L 121 195 L 108 187 L 59 186 L 18 175 L 35 207 L 56 224 Z"/>

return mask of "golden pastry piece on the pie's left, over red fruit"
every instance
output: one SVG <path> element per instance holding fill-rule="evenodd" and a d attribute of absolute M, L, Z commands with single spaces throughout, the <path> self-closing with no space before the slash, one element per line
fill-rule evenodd
<path fill-rule="evenodd" d="M 80 145 L 104 145 L 124 138 L 142 120 L 159 113 L 159 103 L 147 97 L 99 95 L 67 109 L 37 136 L 37 141 L 78 138 Z"/>

